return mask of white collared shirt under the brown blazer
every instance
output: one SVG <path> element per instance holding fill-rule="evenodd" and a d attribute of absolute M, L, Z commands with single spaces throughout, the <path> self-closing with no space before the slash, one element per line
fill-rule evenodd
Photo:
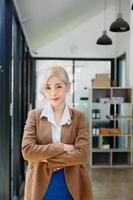
<path fill-rule="evenodd" d="M 43 117 L 43 116 L 47 117 L 48 121 L 51 123 L 53 143 L 60 143 L 62 125 L 71 123 L 71 117 L 70 117 L 68 105 L 65 106 L 59 125 L 56 124 L 56 121 L 54 118 L 54 112 L 49 102 L 46 103 L 40 117 Z"/>

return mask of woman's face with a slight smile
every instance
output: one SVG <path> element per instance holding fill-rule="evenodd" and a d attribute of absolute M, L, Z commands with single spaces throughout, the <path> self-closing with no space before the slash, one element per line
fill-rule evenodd
<path fill-rule="evenodd" d="M 44 88 L 44 94 L 53 107 L 60 106 L 65 103 L 66 93 L 69 91 L 70 86 L 63 83 L 56 76 L 48 79 Z"/>

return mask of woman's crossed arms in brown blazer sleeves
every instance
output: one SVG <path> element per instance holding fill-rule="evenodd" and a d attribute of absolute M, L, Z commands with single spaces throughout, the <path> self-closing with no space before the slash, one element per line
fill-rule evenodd
<path fill-rule="evenodd" d="M 51 168 L 85 164 L 88 158 L 88 131 L 85 116 L 80 113 L 74 144 L 37 144 L 36 117 L 30 111 L 24 128 L 22 154 L 25 160 L 46 162 Z"/>

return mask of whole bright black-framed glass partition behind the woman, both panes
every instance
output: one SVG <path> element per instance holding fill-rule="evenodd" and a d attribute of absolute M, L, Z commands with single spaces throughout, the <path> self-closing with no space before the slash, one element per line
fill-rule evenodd
<path fill-rule="evenodd" d="M 111 80 L 111 60 L 36 60 L 36 107 L 43 107 L 44 98 L 40 93 L 41 83 L 45 70 L 54 65 L 62 66 L 68 72 L 72 84 L 71 93 L 67 97 L 68 104 L 83 111 L 88 117 L 88 88 L 92 87 L 92 79 L 97 74 L 107 74 Z"/>

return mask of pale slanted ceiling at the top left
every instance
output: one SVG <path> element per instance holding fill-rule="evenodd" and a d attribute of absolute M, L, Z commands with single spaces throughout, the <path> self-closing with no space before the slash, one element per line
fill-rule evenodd
<path fill-rule="evenodd" d="M 116 0 L 108 0 L 113 6 Z M 14 0 L 31 52 L 104 10 L 104 0 Z"/>

